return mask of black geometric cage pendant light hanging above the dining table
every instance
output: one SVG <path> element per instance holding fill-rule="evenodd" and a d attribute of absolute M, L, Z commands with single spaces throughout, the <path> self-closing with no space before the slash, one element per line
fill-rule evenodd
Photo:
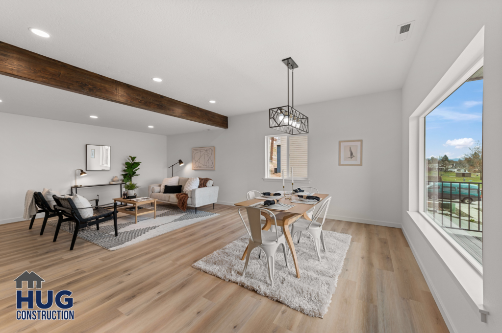
<path fill-rule="evenodd" d="M 306 134 L 309 132 L 309 118 L 303 113 L 295 110 L 295 68 L 298 65 L 291 58 L 283 59 L 288 70 L 288 105 L 269 109 L 270 128 L 288 134 Z M 289 105 L 289 71 L 292 71 L 292 103 Z"/>

